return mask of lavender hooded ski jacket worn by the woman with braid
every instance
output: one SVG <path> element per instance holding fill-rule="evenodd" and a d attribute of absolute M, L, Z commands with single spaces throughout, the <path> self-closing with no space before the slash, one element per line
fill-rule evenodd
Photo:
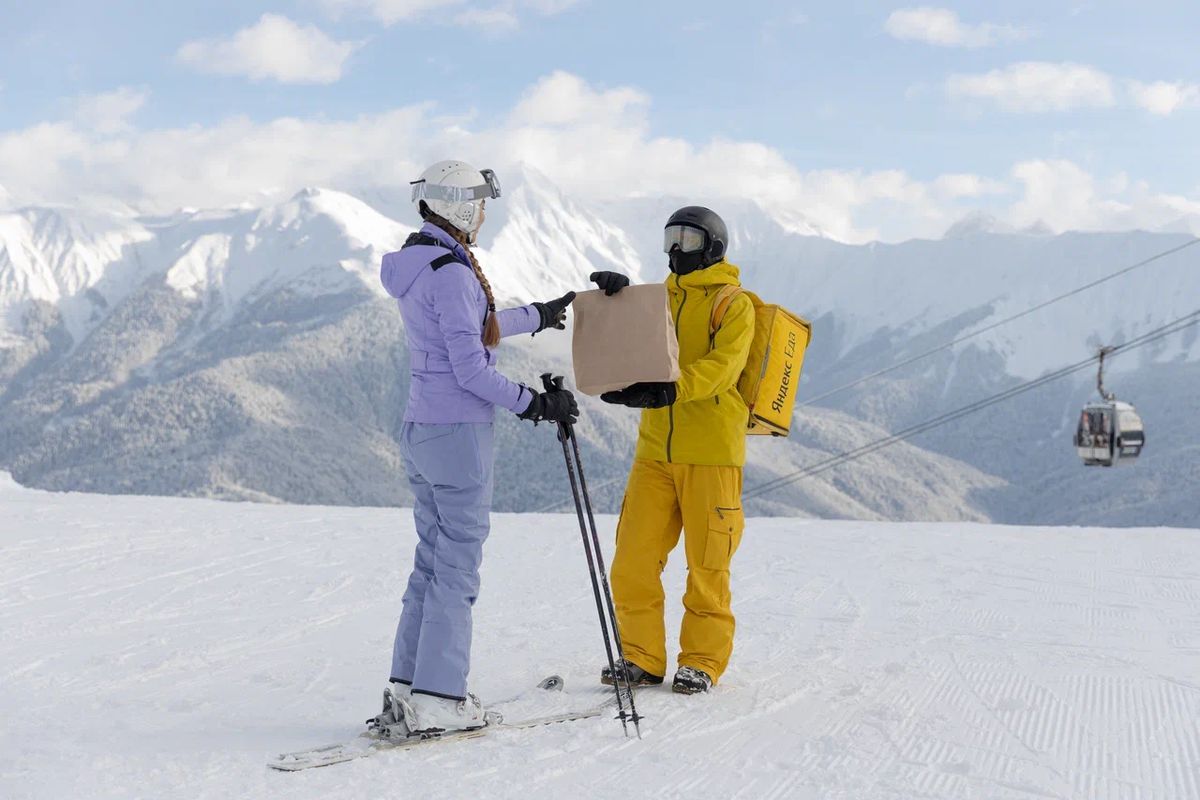
<path fill-rule="evenodd" d="M 410 379 L 406 422 L 491 422 L 494 407 L 521 414 L 533 393 L 496 371 L 496 355 L 484 347 L 487 297 L 466 251 L 449 234 L 426 223 L 421 233 L 443 247 L 413 245 L 383 257 L 379 278 L 400 303 L 408 339 Z M 438 269 L 431 263 L 454 253 Z M 530 306 L 497 313 L 502 336 L 532 333 L 540 315 Z"/>

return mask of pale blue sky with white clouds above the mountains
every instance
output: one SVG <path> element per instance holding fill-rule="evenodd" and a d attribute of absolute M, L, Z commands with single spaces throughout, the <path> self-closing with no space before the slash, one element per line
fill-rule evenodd
<path fill-rule="evenodd" d="M 481 157 L 532 162 L 568 191 L 630 192 L 637 172 L 617 170 L 619 185 L 606 190 L 565 145 L 512 145 L 521 125 L 542 134 L 548 125 L 566 140 L 586 128 L 580 142 L 596 150 L 600 172 L 606 157 L 618 166 L 653 158 L 650 178 L 632 193 L 752 193 L 756 181 L 786 182 L 794 173 L 796 198 L 772 190 L 766 199 L 808 217 L 827 213 L 821 227 L 844 239 L 936 235 L 974 207 L 1013 224 L 1061 216 L 1045 222 L 1063 229 L 1153 227 L 1200 213 L 1194 4 L 4 0 L 0 22 L 0 186 L 25 201 L 70 199 L 72 175 L 91 167 L 74 182 L 79 193 L 172 205 L 181 187 L 154 188 L 170 161 L 164 139 L 185 157 L 188 137 L 197 148 L 229 142 L 230 120 L 246 136 L 271 138 L 281 136 L 281 119 L 358 125 L 420 108 L 421 121 L 395 143 L 406 167 L 438 145 L 466 145 Z M 284 53 L 263 55 L 270 48 Z M 514 122 L 514 110 L 556 74 L 571 85 Z M 547 122 L 546 103 L 562 91 L 584 104 L 611 103 Z M 47 125 L 56 126 L 53 136 L 35 136 Z M 474 138 L 448 136 L 444 125 Z M 385 148 L 378 127 L 365 136 Z M 330 142 L 323 131 L 306 140 Z M 334 140 L 354 149 L 354 134 L 340 133 Z M 625 137 L 641 144 L 604 155 L 606 142 Z M 528 148 L 538 137 L 521 138 Z M 660 169 L 661 149 L 646 146 L 656 142 L 688 145 L 694 166 L 685 154 Z M 738 146 L 714 152 L 713 143 Z M 145 167 L 160 178 L 115 164 L 110 152 L 122 145 L 130 158 L 162 157 Z M 371 145 L 367 154 L 386 157 Z M 238 157 L 247 156 L 229 156 Z M 312 163 L 320 158 L 293 157 L 304 163 L 292 172 L 280 164 L 263 188 L 354 188 L 358 175 L 378 173 L 343 155 L 336 166 Z M 42 160 L 46 175 L 30 166 Z M 692 186 L 695 170 L 715 175 Z M 754 180 L 743 184 L 742 174 Z M 208 184 L 204 173 L 187 180 Z M 197 186 L 194 204 L 228 203 L 245 188 Z M 1093 197 L 1064 215 L 1058 193 Z"/>

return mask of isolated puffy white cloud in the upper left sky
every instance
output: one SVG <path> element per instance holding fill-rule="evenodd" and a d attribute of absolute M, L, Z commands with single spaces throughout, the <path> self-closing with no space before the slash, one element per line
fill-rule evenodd
<path fill-rule="evenodd" d="M 176 58 L 199 70 L 254 80 L 331 84 L 341 79 L 356 42 L 338 42 L 314 25 L 299 25 L 280 14 L 263 14 L 228 38 L 184 44 Z"/>

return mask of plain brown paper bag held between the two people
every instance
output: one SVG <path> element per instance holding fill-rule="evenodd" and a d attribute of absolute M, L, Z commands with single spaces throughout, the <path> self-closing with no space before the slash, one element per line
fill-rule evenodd
<path fill-rule="evenodd" d="M 679 380 L 679 342 L 666 284 L 626 287 L 611 297 L 599 289 L 582 291 L 571 313 L 575 386 L 584 395 Z"/>

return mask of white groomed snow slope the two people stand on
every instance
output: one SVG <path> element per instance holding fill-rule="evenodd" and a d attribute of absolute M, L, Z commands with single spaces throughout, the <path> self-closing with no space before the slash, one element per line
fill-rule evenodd
<path fill-rule="evenodd" d="M 6 476 L 0 509 L 8 800 L 1200 798 L 1196 530 L 754 519 L 731 669 L 641 692 L 643 741 L 588 720 L 278 774 L 377 710 L 407 511 Z M 474 688 L 590 692 L 600 654 L 574 519 L 498 515 Z"/>

